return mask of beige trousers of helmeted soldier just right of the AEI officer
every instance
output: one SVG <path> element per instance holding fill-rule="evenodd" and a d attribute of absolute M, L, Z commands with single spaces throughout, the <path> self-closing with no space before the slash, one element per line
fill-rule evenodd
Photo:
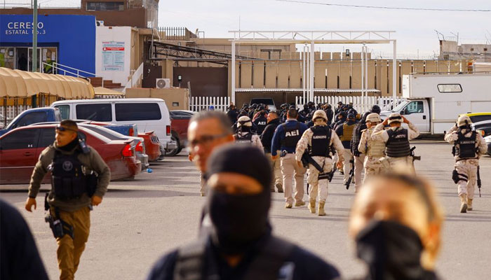
<path fill-rule="evenodd" d="M 328 173 L 332 171 L 333 165 L 332 160 L 330 158 L 324 157 L 312 157 L 321 167 L 324 165 L 324 173 Z M 317 195 L 319 197 L 319 202 L 325 202 L 328 199 L 328 179 L 323 179 L 321 181 L 318 180 L 319 172 L 313 165 L 309 165 L 307 175 L 307 183 L 309 183 L 309 200 L 316 200 Z"/>

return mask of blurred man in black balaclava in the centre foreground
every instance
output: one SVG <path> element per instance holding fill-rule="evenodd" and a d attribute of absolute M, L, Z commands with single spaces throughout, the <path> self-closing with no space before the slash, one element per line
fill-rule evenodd
<path fill-rule="evenodd" d="M 337 269 L 321 258 L 272 235 L 271 167 L 262 151 L 223 146 L 208 160 L 207 170 L 210 232 L 163 256 L 149 280 L 339 277 Z"/>

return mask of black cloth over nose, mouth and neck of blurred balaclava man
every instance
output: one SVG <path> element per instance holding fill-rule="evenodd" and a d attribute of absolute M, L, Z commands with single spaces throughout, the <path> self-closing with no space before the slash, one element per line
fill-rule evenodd
<path fill-rule="evenodd" d="M 271 198 L 266 193 L 228 195 L 212 191 L 209 203 L 213 242 L 222 253 L 243 253 L 267 232 Z"/>

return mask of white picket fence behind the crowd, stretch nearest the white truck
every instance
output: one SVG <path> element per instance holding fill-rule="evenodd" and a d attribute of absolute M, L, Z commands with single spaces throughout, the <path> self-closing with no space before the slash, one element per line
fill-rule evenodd
<path fill-rule="evenodd" d="M 316 96 L 314 97 L 314 103 L 315 104 L 331 104 L 332 108 L 337 107 L 337 102 L 342 102 L 343 104 L 349 104 L 353 103 L 354 109 L 358 112 L 363 112 L 363 111 L 368 111 L 373 105 L 378 105 L 380 106 L 380 109 L 382 111 L 389 111 L 392 107 L 392 102 L 393 99 L 392 97 L 365 97 L 365 102 L 363 102 L 363 97 L 359 96 Z M 396 103 L 399 104 L 401 103 L 404 98 L 398 97 L 396 99 Z M 297 108 L 302 109 L 304 104 L 307 103 L 307 99 L 303 100 L 303 97 L 295 97 L 295 104 L 297 105 Z M 365 109 L 363 109 L 363 105 L 365 104 Z"/>

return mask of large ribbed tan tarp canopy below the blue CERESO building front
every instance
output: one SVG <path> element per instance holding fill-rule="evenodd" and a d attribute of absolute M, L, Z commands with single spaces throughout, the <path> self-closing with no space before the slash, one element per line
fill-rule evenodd
<path fill-rule="evenodd" d="M 39 93 L 65 99 L 94 98 L 94 88 L 83 78 L 0 67 L 0 97 L 30 97 Z"/>

